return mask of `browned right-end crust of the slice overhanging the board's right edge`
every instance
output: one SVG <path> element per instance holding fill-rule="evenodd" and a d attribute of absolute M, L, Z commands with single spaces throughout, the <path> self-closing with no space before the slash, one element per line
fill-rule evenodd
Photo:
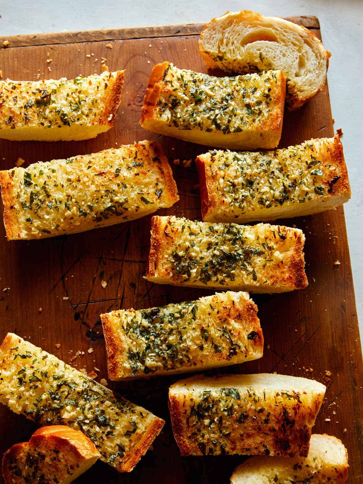
<path fill-rule="evenodd" d="M 350 183 L 348 178 L 348 168 L 344 159 L 343 145 L 338 135 L 333 138 L 333 144 L 329 143 L 326 150 L 329 162 L 332 162 L 338 169 L 340 179 L 332 185 L 330 195 L 342 197 L 342 203 L 348 202 L 351 197 Z M 329 185 L 330 180 L 324 180 Z"/>

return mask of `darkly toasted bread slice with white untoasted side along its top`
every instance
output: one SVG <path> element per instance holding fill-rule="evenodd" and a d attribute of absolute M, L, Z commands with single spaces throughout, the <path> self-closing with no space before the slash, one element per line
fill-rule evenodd
<path fill-rule="evenodd" d="M 306 457 L 325 389 L 270 373 L 179 380 L 169 410 L 180 453 Z"/>

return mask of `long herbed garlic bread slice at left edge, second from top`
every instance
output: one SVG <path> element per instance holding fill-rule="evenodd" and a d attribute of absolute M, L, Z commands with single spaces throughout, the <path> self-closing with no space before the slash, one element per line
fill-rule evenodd
<path fill-rule="evenodd" d="M 179 200 L 161 146 L 149 141 L 0 171 L 0 187 L 7 240 L 106 227 Z"/>

